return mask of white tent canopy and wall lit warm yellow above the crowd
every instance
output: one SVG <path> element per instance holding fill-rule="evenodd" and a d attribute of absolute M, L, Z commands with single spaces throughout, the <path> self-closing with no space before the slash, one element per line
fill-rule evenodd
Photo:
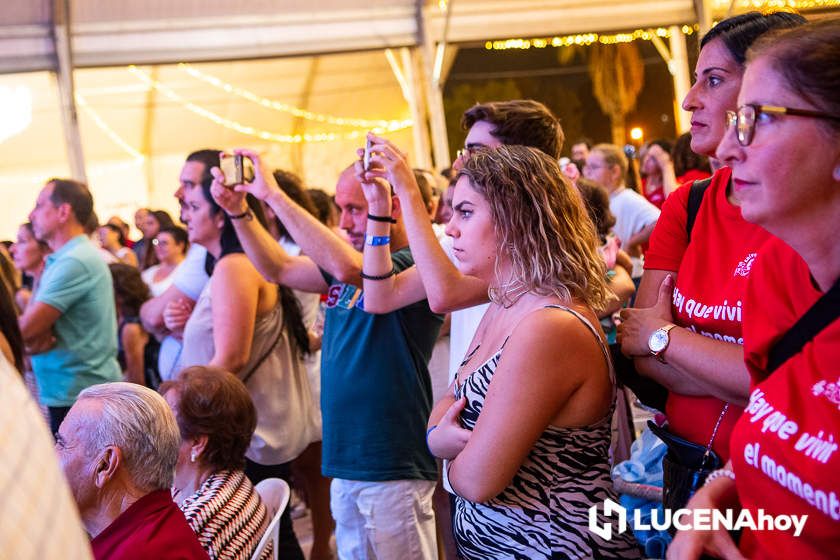
<path fill-rule="evenodd" d="M 256 148 L 331 191 L 370 128 L 342 119 L 411 121 L 388 136 L 415 162 L 431 148 L 442 162 L 438 43 L 680 25 L 717 4 L 729 2 L 12 0 L 0 14 L 0 237 L 45 179 L 80 168 L 103 220 L 174 211 L 180 164 L 204 147 Z"/>

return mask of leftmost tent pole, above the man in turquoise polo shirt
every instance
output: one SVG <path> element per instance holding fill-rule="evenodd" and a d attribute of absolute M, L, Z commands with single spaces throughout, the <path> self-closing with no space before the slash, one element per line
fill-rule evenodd
<path fill-rule="evenodd" d="M 73 49 L 70 44 L 70 5 L 68 0 L 53 0 L 52 40 L 56 54 L 55 76 L 61 102 L 61 120 L 70 174 L 74 179 L 87 182 L 82 135 L 79 132 L 79 115 L 76 111 L 75 85 L 73 83 Z"/>

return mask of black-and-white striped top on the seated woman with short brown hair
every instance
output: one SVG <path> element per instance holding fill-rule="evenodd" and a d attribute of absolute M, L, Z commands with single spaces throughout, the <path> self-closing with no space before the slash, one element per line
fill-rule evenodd
<path fill-rule="evenodd" d="M 211 560 L 248 560 L 271 521 L 241 470 L 219 471 L 184 500 L 181 511 Z M 260 556 L 271 557 L 271 545 Z"/>

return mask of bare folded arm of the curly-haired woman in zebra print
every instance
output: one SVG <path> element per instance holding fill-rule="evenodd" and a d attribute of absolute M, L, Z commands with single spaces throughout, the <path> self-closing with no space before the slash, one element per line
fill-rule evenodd
<path fill-rule="evenodd" d="M 577 318 L 553 309 L 524 318 L 505 345 L 469 441 L 450 464 L 452 488 L 475 502 L 498 495 L 558 416 L 578 414 L 572 408 L 592 414 L 591 401 L 570 403 L 598 375 L 607 382 L 603 355 Z"/>

